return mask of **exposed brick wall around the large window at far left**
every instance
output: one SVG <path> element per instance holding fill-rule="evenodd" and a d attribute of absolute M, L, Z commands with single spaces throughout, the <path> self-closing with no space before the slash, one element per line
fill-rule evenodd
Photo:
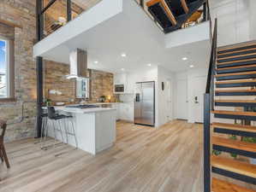
<path fill-rule="evenodd" d="M 16 102 L 0 102 L 0 118 L 9 122 L 18 122 L 21 117 L 21 102 L 29 102 L 25 105 L 24 121 L 7 127 L 6 140 L 12 141 L 22 137 L 33 137 L 35 130 L 36 70 L 33 60 L 35 0 L 1 0 L 0 19 L 22 26 L 22 28 L 0 26 L 3 36 L 15 39 L 16 98 Z"/>

